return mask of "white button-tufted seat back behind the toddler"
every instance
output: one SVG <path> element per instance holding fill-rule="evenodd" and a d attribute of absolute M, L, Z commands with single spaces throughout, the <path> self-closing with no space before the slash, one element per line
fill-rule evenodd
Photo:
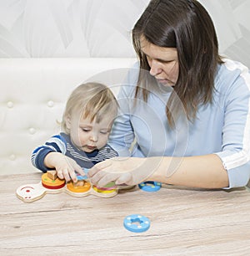
<path fill-rule="evenodd" d="M 0 59 L 0 175 L 36 172 L 32 150 L 60 131 L 68 95 L 87 80 L 117 94 L 135 59 Z"/>

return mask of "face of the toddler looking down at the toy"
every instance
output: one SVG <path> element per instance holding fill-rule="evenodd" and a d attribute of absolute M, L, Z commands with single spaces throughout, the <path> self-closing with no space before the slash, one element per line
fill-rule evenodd
<path fill-rule="evenodd" d="M 102 148 L 107 144 L 113 119 L 112 114 L 106 114 L 98 123 L 96 120 L 83 118 L 82 115 L 68 117 L 66 124 L 72 143 L 87 153 Z"/>

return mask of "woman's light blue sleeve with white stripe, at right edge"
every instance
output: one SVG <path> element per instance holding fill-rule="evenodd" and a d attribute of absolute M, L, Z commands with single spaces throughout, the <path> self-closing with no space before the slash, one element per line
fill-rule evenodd
<path fill-rule="evenodd" d="M 237 69 L 225 95 L 222 151 L 216 153 L 228 171 L 228 188 L 246 186 L 250 178 L 250 74 L 241 64 Z"/>

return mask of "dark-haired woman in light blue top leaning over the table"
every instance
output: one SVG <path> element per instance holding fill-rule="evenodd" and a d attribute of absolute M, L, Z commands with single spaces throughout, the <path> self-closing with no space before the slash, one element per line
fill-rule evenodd
<path fill-rule="evenodd" d="M 218 54 L 213 21 L 195 0 L 152 0 L 133 28 L 139 66 L 119 93 L 111 145 L 89 172 L 99 186 L 158 181 L 243 187 L 250 175 L 250 75 Z M 101 171 L 101 172 L 100 172 Z"/>

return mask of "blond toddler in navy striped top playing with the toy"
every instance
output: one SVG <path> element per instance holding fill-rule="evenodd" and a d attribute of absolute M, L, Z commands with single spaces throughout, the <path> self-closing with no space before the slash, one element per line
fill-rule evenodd
<path fill-rule="evenodd" d="M 104 84 L 79 85 L 67 100 L 62 132 L 32 152 L 32 164 L 42 172 L 56 170 L 57 177 L 77 182 L 76 172 L 117 156 L 107 145 L 117 115 L 117 100 Z M 83 168 L 83 170 L 82 170 Z"/>

